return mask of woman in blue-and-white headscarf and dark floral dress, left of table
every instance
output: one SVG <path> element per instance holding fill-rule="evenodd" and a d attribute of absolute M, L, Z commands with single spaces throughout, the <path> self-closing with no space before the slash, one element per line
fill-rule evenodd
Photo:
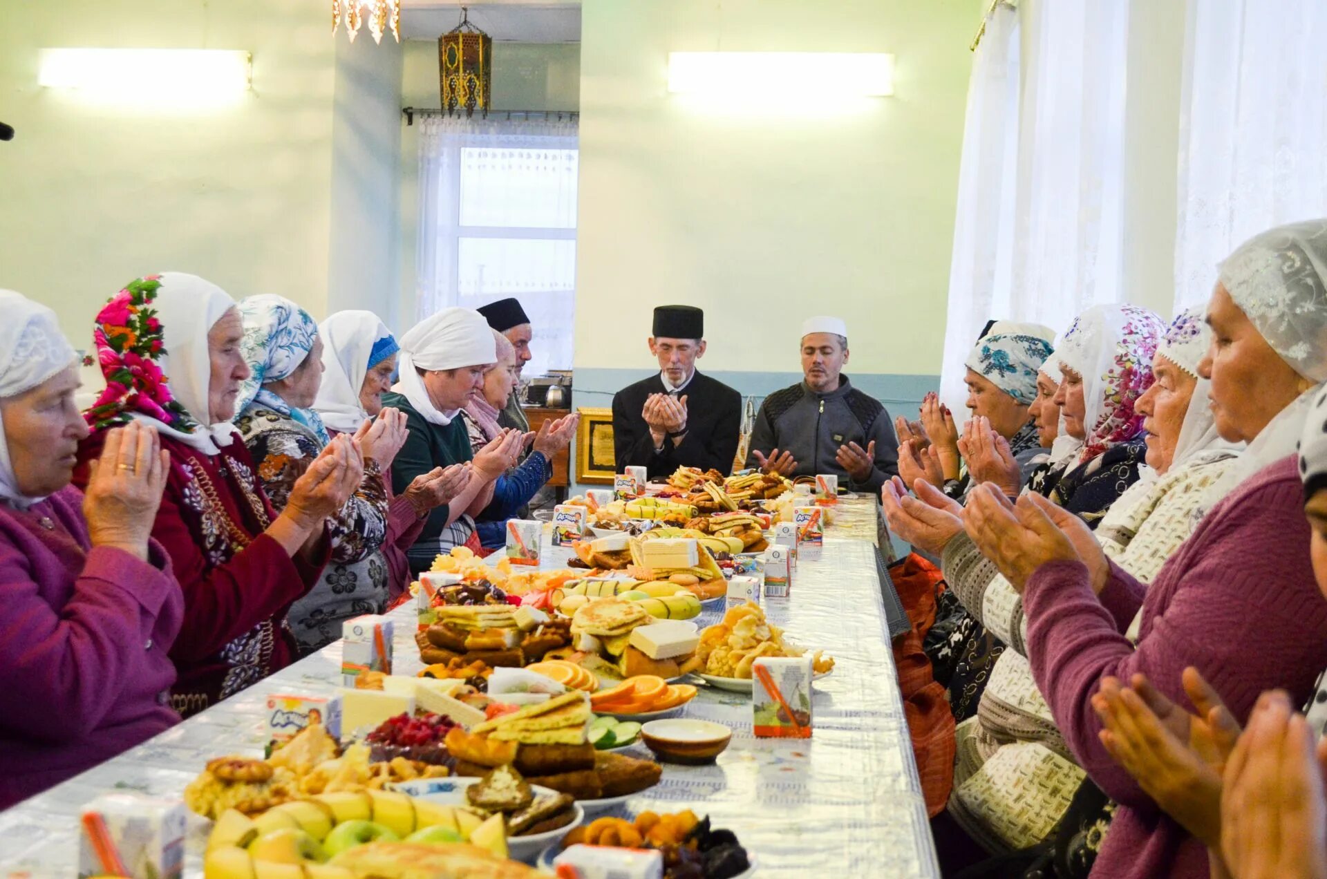
<path fill-rule="evenodd" d="M 240 317 L 249 377 L 240 389 L 235 425 L 272 507 L 280 511 L 296 479 L 330 442 L 313 409 L 325 345 L 313 317 L 281 296 L 249 296 L 240 303 Z M 287 615 L 301 655 L 340 639 L 346 620 L 386 611 L 390 596 L 399 595 L 406 583 L 389 582 L 384 544 L 417 531 L 423 524 L 421 515 L 446 502 L 426 497 L 414 483 L 389 501 L 384 474 L 406 440 L 405 416 L 394 409 L 380 412 L 372 421 L 362 420 L 353 436 L 364 453 L 364 481 L 328 518 L 330 560 L 317 584 Z"/>

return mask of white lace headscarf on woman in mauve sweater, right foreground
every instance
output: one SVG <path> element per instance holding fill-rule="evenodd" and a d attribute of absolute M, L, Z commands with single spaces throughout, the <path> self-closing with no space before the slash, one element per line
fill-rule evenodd
<path fill-rule="evenodd" d="M 1254 235 L 1221 263 L 1221 284 L 1282 360 L 1316 382 L 1282 409 L 1204 498 L 1210 510 L 1241 482 L 1292 454 L 1327 380 L 1327 219 Z"/>

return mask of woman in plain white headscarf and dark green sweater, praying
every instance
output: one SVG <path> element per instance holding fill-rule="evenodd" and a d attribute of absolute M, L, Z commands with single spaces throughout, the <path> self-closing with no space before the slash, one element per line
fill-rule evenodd
<path fill-rule="evenodd" d="M 475 519 L 494 498 L 499 477 L 516 466 L 525 442 L 519 430 L 503 430 L 478 453 L 470 446 L 460 410 L 479 394 L 484 373 L 498 362 L 492 331 L 470 308 L 443 308 L 401 337 L 399 380 L 384 404 L 406 416 L 409 437 L 391 465 L 391 483 L 405 490 L 411 479 L 437 467 L 463 463 L 471 478 L 451 503 L 429 514 L 407 556 L 413 572 L 427 571 L 439 554 L 454 547 L 480 551 Z"/>

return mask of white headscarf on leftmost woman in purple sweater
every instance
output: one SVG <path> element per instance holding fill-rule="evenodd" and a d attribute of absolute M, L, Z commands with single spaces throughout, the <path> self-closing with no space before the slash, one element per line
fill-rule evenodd
<path fill-rule="evenodd" d="M 56 312 L 12 289 L 0 289 L 0 398 L 17 397 L 58 374 L 78 355 L 69 345 Z M 19 491 L 0 416 L 0 498 L 20 510 L 44 501 Z"/>

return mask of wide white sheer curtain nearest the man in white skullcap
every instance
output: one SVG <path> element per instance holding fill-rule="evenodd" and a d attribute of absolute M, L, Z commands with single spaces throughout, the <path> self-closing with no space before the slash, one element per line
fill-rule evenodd
<path fill-rule="evenodd" d="M 1124 297 L 1124 138 L 1132 0 L 998 5 L 973 60 L 942 398 L 990 319 L 1056 332 Z M 1013 94 L 1011 94 L 1013 92 Z"/>

